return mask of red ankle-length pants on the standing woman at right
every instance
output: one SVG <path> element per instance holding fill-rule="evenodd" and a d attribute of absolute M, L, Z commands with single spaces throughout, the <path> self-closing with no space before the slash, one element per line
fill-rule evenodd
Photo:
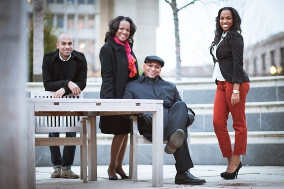
<path fill-rule="evenodd" d="M 213 126 L 218 139 L 223 157 L 242 155 L 246 152 L 247 129 L 245 120 L 245 98 L 249 90 L 249 82 L 243 82 L 240 85 L 240 103 L 232 106 L 231 97 L 234 83 L 227 81 L 218 81 L 214 108 L 213 108 Z M 227 120 L 229 113 L 233 118 L 233 128 L 235 130 L 234 151 L 227 129 Z"/>

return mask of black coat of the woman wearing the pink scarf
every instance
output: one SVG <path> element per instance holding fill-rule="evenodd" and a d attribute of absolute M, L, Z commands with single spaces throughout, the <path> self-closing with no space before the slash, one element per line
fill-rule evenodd
<path fill-rule="evenodd" d="M 132 49 L 133 44 L 129 42 Z M 137 60 L 133 51 L 132 56 Z M 137 74 L 129 78 L 128 59 L 125 47 L 113 39 L 107 40 L 100 50 L 102 85 L 101 98 L 122 99 L 127 82 L 138 78 L 138 64 L 135 62 Z M 127 134 L 130 132 L 130 120 L 120 115 L 101 116 L 99 127 L 102 133 Z"/>

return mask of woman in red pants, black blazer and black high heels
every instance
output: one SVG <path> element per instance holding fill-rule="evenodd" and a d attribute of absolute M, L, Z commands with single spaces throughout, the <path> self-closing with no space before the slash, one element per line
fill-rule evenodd
<path fill-rule="evenodd" d="M 213 126 L 223 157 L 228 160 L 224 179 L 235 179 L 242 167 L 240 156 L 246 152 L 247 128 L 245 99 L 249 90 L 249 78 L 243 70 L 243 37 L 241 18 L 237 10 L 223 7 L 215 19 L 215 38 L 210 47 L 214 61 L 212 78 L 217 84 Z M 234 150 L 227 129 L 229 113 L 235 130 Z"/>

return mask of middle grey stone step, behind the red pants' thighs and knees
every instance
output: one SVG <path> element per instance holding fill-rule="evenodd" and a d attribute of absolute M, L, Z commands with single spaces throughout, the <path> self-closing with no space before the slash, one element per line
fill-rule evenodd
<path fill-rule="evenodd" d="M 196 113 L 195 121 L 190 126 L 191 132 L 213 132 L 213 104 L 188 104 Z M 284 131 L 284 101 L 248 102 L 245 104 L 248 131 Z M 229 115 L 228 130 L 233 120 Z"/>

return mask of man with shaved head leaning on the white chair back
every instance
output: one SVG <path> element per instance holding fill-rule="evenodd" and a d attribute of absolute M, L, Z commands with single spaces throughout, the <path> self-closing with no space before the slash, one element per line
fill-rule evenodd
<path fill-rule="evenodd" d="M 42 80 L 46 91 L 55 91 L 53 98 L 64 95 L 79 95 L 86 86 L 87 61 L 83 53 L 73 50 L 73 38 L 61 34 L 56 43 L 56 50 L 46 53 L 42 62 Z M 59 137 L 59 133 L 49 133 L 49 137 Z M 76 132 L 66 133 L 66 137 L 76 137 Z M 61 156 L 59 146 L 50 146 L 54 172 L 51 178 L 78 179 L 71 170 L 76 146 L 64 146 Z"/>

